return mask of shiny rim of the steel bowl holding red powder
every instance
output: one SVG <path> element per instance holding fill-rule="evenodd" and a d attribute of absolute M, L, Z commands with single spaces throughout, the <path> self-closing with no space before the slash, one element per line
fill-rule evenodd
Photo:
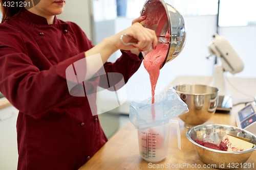
<path fill-rule="evenodd" d="M 208 150 L 208 151 L 218 152 L 218 153 L 223 153 L 223 154 L 244 154 L 244 153 L 249 153 L 249 152 L 252 152 L 252 151 L 255 151 L 255 150 L 256 150 L 256 146 L 255 146 L 255 147 L 253 147 L 252 149 L 249 149 L 249 150 L 246 150 L 246 151 L 237 151 L 237 152 L 219 151 L 219 150 L 210 149 L 210 148 L 204 147 L 204 146 L 201 145 L 201 144 L 198 144 L 197 142 L 195 142 L 194 140 L 192 140 L 192 139 L 190 138 L 190 136 L 188 135 L 189 132 L 190 132 L 192 129 L 194 129 L 194 128 L 196 128 L 196 127 L 200 127 L 200 126 L 207 126 L 207 125 L 211 125 L 211 126 L 223 126 L 223 127 L 230 127 L 230 128 L 235 128 L 235 129 L 243 130 L 243 131 L 245 131 L 246 133 L 248 133 L 248 134 L 250 134 L 250 135 L 252 135 L 252 136 L 254 136 L 254 137 L 256 138 L 256 136 L 255 136 L 253 133 L 251 133 L 251 132 L 249 132 L 249 131 L 247 131 L 247 130 L 238 128 L 238 127 L 229 126 L 229 125 L 221 125 L 221 124 L 203 124 L 203 125 L 198 125 L 198 126 L 194 126 L 194 127 L 189 128 L 189 129 L 187 130 L 187 132 L 186 132 L 186 137 L 187 137 L 187 139 L 188 139 L 191 143 L 197 145 L 198 147 L 201 147 L 201 148 L 206 149 L 206 150 Z"/>

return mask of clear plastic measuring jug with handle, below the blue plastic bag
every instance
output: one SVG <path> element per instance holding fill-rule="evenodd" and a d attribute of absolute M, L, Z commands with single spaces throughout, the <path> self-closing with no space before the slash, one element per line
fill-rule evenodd
<path fill-rule="evenodd" d="M 178 148 L 181 149 L 180 124 L 178 120 L 169 120 L 167 124 L 154 128 L 138 129 L 139 152 L 145 161 L 155 163 L 160 162 L 166 157 L 168 152 L 169 127 L 171 126 L 177 129 Z"/>

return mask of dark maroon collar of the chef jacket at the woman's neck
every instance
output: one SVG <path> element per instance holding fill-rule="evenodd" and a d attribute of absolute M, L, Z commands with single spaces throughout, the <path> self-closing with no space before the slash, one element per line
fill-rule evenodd
<path fill-rule="evenodd" d="M 36 25 L 48 25 L 47 19 L 45 17 L 36 15 L 25 8 L 22 9 L 22 12 L 20 13 L 20 16 L 22 16 L 23 19 L 25 19 L 28 22 L 32 22 Z M 57 23 L 57 17 L 54 16 L 53 23 Z"/>

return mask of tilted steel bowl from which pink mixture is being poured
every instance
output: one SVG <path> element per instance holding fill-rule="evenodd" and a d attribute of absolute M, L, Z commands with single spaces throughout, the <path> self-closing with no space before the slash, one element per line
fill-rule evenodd
<path fill-rule="evenodd" d="M 145 12 L 146 19 L 141 23 L 145 28 L 149 28 L 156 31 L 156 34 L 166 35 L 169 31 L 168 39 L 168 52 L 165 60 L 160 68 L 165 63 L 173 60 L 177 57 L 186 42 L 186 27 L 185 20 L 181 13 L 173 6 L 166 4 L 163 0 L 147 0 L 143 6 L 141 14 Z M 167 42 L 166 38 L 160 37 L 159 42 Z M 142 52 L 143 57 L 153 50 Z"/>

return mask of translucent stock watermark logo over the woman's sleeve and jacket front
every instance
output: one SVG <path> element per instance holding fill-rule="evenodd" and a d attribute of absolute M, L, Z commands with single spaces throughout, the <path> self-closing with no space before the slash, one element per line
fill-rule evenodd
<path fill-rule="evenodd" d="M 66 79 L 69 93 L 77 97 L 86 96 L 93 115 L 115 109 L 127 100 L 123 75 L 118 72 L 106 74 L 100 54 L 88 56 L 69 65 L 66 69 Z M 97 88 L 98 86 L 101 88 Z M 97 111 L 97 96 L 112 100 L 111 106 L 107 110 Z M 119 100 L 120 97 L 125 100 Z"/>

